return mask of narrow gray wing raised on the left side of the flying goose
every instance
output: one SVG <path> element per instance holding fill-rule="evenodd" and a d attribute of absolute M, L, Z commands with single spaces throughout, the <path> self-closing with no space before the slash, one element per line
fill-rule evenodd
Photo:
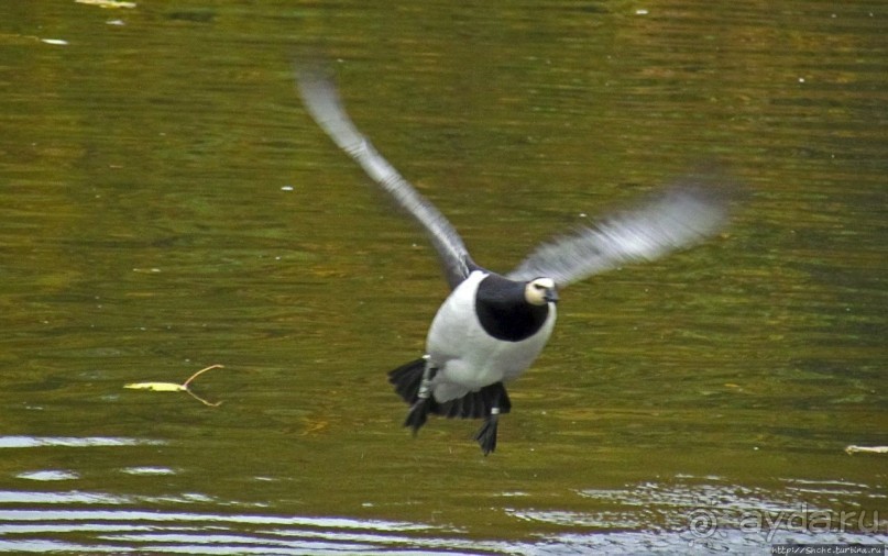
<path fill-rule="evenodd" d="M 342 108 L 336 86 L 317 68 L 296 68 L 296 85 L 315 122 L 395 202 L 425 227 L 441 259 L 451 289 L 475 268 L 462 238 L 443 214 L 419 194 L 401 174 L 376 152 Z"/>

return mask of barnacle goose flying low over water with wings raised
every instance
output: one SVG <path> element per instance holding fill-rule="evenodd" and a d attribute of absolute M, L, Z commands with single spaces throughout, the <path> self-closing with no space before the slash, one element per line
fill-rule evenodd
<path fill-rule="evenodd" d="M 689 177 L 642 208 L 580 227 L 531 253 L 508 274 L 479 266 L 457 231 L 380 155 L 343 109 L 318 67 L 297 67 L 297 87 L 317 124 L 428 234 L 452 290 L 431 321 L 426 354 L 388 374 L 410 405 L 414 434 L 429 413 L 484 419 L 475 434 L 484 455 L 496 448 L 505 383 L 520 376 L 549 340 L 558 290 L 623 265 L 699 243 L 726 220 L 726 203 Z"/>

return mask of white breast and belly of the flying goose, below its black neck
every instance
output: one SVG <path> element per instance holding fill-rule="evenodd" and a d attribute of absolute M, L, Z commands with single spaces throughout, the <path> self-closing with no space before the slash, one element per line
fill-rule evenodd
<path fill-rule="evenodd" d="M 480 270 L 469 275 L 431 321 L 426 351 L 438 368 L 434 392 L 439 402 L 517 378 L 537 358 L 555 326 L 555 303 L 549 303 L 549 315 L 533 336 L 520 342 L 491 337 L 475 315 L 475 292 L 486 276 Z"/>

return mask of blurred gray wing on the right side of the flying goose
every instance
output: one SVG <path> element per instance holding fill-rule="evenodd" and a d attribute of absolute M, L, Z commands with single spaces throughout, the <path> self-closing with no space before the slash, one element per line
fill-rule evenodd
<path fill-rule="evenodd" d="M 632 212 L 539 246 L 509 273 L 514 280 L 546 276 L 559 287 L 626 263 L 654 260 L 700 243 L 727 220 L 726 197 L 677 187 Z"/>

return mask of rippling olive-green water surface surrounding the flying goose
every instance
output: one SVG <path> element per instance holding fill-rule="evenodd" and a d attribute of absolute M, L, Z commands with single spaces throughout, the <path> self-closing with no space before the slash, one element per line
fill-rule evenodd
<path fill-rule="evenodd" d="M 845 453 L 888 445 L 881 3 L 0 21 L 1 551 L 888 543 L 884 456 Z M 299 107 L 303 47 L 492 268 L 701 160 L 749 197 L 723 237 L 563 292 L 496 454 L 476 423 L 412 438 L 384 371 L 443 282 Z M 123 389 L 215 363 L 219 408 Z"/>

